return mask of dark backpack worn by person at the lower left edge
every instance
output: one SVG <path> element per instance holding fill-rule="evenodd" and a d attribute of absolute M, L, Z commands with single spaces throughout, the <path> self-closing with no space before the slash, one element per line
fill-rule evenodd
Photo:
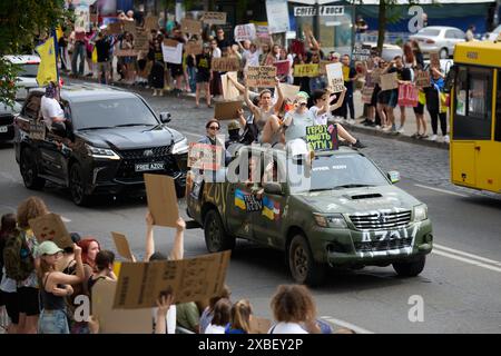
<path fill-rule="evenodd" d="M 35 270 L 35 259 L 22 233 L 16 234 L 6 241 L 3 266 L 7 277 L 19 281 L 28 278 Z"/>

